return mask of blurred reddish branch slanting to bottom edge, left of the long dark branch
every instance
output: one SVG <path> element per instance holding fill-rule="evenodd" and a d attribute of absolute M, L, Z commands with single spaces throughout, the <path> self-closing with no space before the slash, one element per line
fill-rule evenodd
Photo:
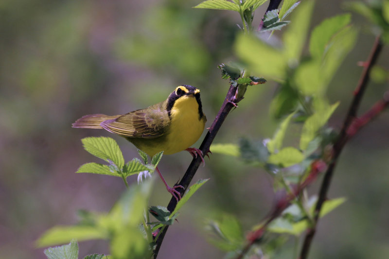
<path fill-rule="evenodd" d="M 248 244 L 242 249 L 242 252 L 239 254 L 237 259 L 242 259 L 247 254 L 251 246 L 262 238 L 263 234 L 265 233 L 266 227 L 273 220 L 278 218 L 287 207 L 290 206 L 291 202 L 300 195 L 302 190 L 304 190 L 308 185 L 310 185 L 316 180 L 319 173 L 324 172 L 326 169 L 327 165 L 324 161 L 316 160 L 312 162 L 310 172 L 308 173 L 308 176 L 305 178 L 305 180 L 302 181 L 300 184 L 292 187 L 290 193 L 285 192 L 283 194 L 283 197 L 281 197 L 277 201 L 269 215 L 262 220 L 262 222 L 265 223 L 262 224 L 259 229 L 248 234 Z"/>

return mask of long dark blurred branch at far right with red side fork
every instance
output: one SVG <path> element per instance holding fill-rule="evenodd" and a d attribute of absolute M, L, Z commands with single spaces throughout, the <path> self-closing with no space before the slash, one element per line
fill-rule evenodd
<path fill-rule="evenodd" d="M 354 91 L 354 99 L 353 102 L 350 104 L 350 108 L 348 111 L 348 114 L 346 116 L 346 119 L 343 122 L 342 129 L 340 131 L 340 134 L 334 144 L 333 148 L 333 160 L 328 166 L 327 172 L 324 174 L 323 182 L 321 183 L 321 187 L 319 190 L 319 196 L 318 196 L 318 202 L 315 207 L 315 212 L 314 212 L 314 225 L 312 229 L 310 229 L 304 239 L 302 248 L 301 248 L 301 254 L 300 254 L 300 259 L 306 259 L 308 257 L 308 252 L 309 248 L 311 246 L 312 240 L 315 236 L 316 233 L 316 226 L 318 223 L 318 218 L 320 214 L 321 207 L 323 206 L 324 201 L 327 199 L 327 192 L 331 184 L 331 179 L 332 175 L 334 173 L 334 169 L 336 166 L 337 159 L 346 144 L 347 140 L 355 134 L 355 130 L 358 130 L 362 125 L 366 124 L 368 121 L 370 121 L 373 117 L 375 117 L 380 111 L 383 110 L 385 106 L 388 105 L 388 98 L 387 100 L 383 101 L 386 102 L 385 105 L 379 104 L 376 108 L 373 107 L 374 112 L 371 112 L 371 114 L 366 115 L 366 118 L 364 120 L 365 123 L 355 124 L 355 121 L 358 121 L 356 119 L 356 113 L 359 108 L 359 104 L 361 102 L 362 96 L 365 92 L 365 89 L 367 87 L 367 84 L 370 79 L 370 71 L 373 65 L 376 63 L 377 58 L 382 50 L 382 42 L 380 40 L 380 36 L 377 36 L 374 42 L 374 45 L 371 49 L 371 53 L 369 55 L 369 59 L 366 63 L 364 63 L 364 69 L 362 71 L 361 77 L 359 79 L 358 85 Z M 363 118 L 362 116 L 361 118 Z M 354 127 L 351 127 L 354 125 Z M 350 135 L 349 134 L 349 129 L 352 130 L 354 129 L 354 134 Z"/>

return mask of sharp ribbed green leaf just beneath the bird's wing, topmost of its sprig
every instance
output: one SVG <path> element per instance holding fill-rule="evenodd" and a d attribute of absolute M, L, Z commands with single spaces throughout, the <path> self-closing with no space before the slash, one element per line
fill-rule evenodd
<path fill-rule="evenodd" d="M 119 169 L 124 166 L 122 151 L 113 138 L 107 137 L 88 137 L 81 139 L 84 149 L 90 154 L 97 156 L 107 162 L 115 163 Z"/>

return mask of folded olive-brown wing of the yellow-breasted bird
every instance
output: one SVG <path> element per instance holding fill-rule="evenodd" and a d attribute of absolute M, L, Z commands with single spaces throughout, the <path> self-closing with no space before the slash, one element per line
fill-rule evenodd
<path fill-rule="evenodd" d="M 165 102 L 103 121 L 100 125 L 109 132 L 132 138 L 158 138 L 165 134 L 170 118 Z"/>

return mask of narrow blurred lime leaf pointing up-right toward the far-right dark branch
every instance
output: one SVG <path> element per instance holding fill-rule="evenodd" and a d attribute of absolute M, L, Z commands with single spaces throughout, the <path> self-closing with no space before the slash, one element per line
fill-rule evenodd
<path fill-rule="evenodd" d="M 328 109 L 322 109 L 304 122 L 300 138 L 301 150 L 305 150 L 308 147 L 309 142 L 316 137 L 318 130 L 327 123 L 338 105 L 339 103 L 336 103 L 329 106 Z"/>

